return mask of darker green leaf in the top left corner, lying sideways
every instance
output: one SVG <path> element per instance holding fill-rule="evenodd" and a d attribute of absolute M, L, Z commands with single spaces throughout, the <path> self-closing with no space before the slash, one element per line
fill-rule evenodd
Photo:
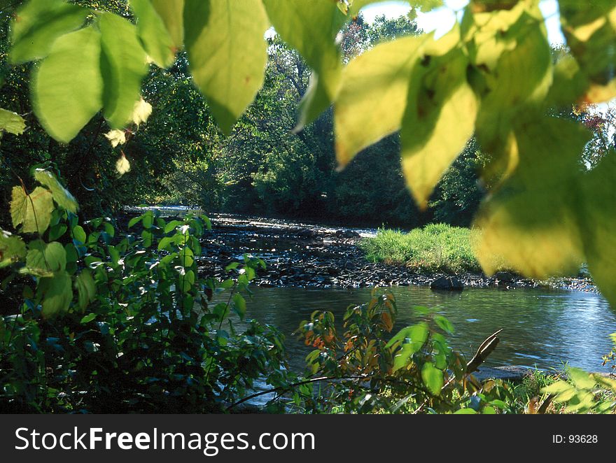
<path fill-rule="evenodd" d="M 90 10 L 63 0 L 30 0 L 15 13 L 11 24 L 10 61 L 13 64 L 48 55 L 52 44 L 78 29 Z"/>

